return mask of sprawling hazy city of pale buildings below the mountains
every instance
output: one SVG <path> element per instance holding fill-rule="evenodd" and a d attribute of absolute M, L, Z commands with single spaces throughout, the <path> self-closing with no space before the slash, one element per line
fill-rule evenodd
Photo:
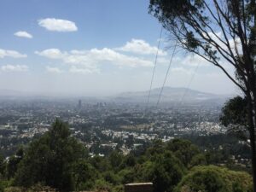
<path fill-rule="evenodd" d="M 44 134 L 56 118 L 67 122 L 73 136 L 92 153 L 117 147 L 127 153 L 154 139 L 166 142 L 186 134 L 225 132 L 218 124 L 220 107 L 212 105 L 187 105 L 177 111 L 172 105 L 35 100 L 0 102 L 0 109 L 0 144 L 7 151 Z"/>

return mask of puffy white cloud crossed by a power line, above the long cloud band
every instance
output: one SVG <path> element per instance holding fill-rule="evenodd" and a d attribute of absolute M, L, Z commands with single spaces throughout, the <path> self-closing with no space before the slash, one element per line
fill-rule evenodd
<path fill-rule="evenodd" d="M 117 50 L 131 52 L 141 55 L 155 55 L 157 47 L 151 46 L 142 39 L 132 38 L 130 42 L 127 42 L 123 47 L 116 48 Z M 166 51 L 159 49 L 158 55 L 167 55 Z"/>

